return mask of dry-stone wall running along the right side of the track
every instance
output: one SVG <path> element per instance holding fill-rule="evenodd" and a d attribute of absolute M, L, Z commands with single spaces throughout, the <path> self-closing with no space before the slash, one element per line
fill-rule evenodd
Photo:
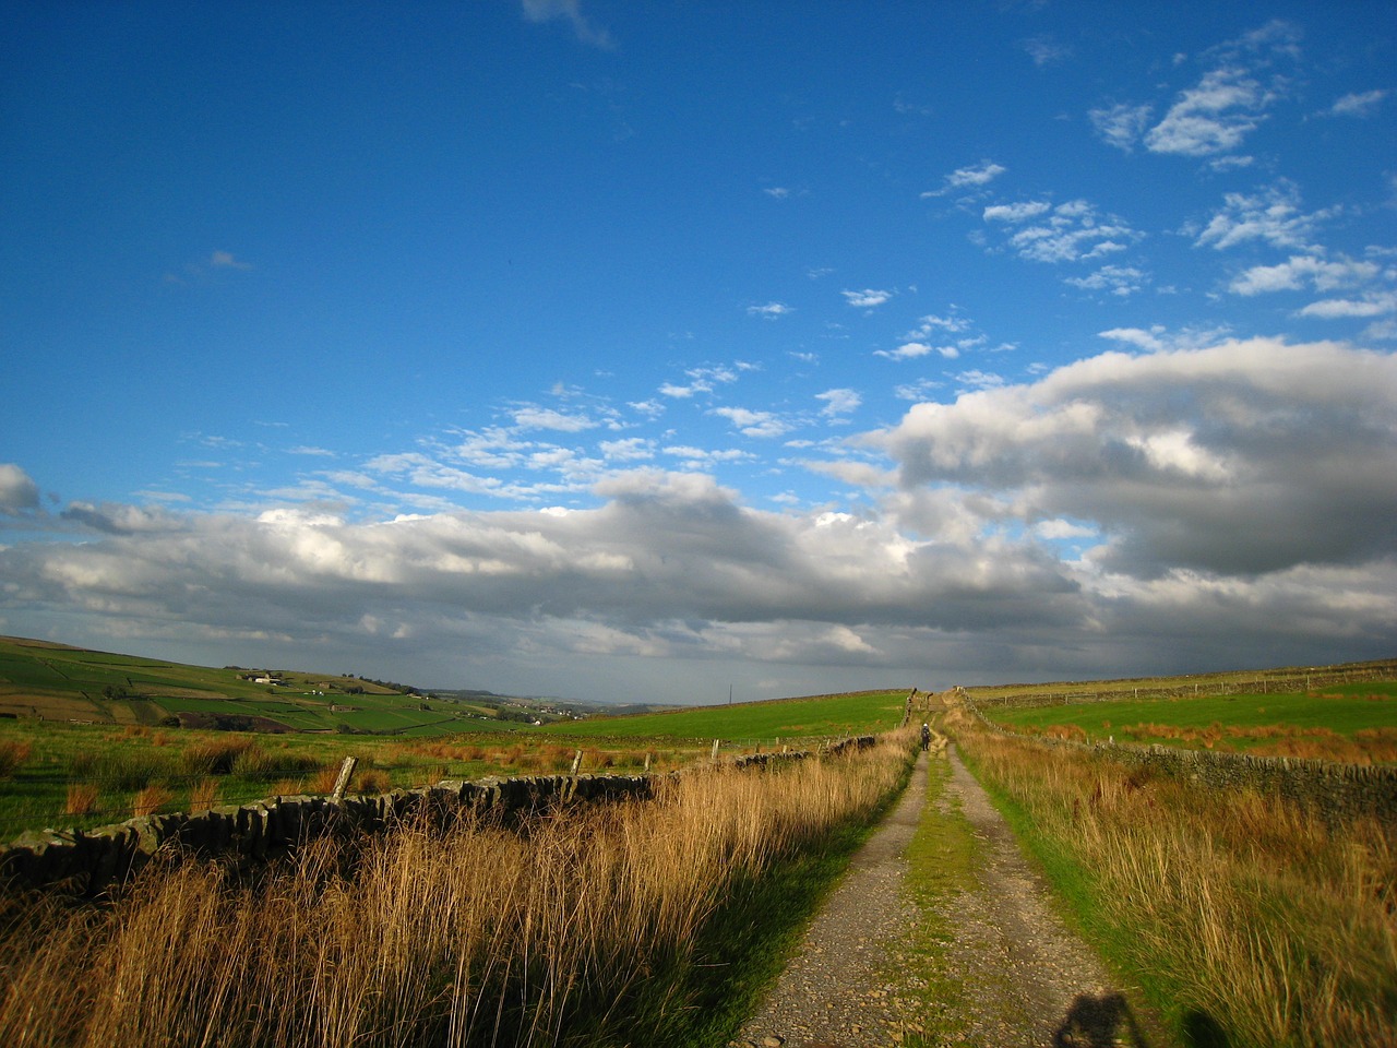
<path fill-rule="evenodd" d="M 1091 753 L 1141 770 L 1187 778 L 1214 789 L 1255 789 L 1259 794 L 1280 795 L 1319 812 L 1330 822 L 1373 816 L 1387 826 L 1397 826 L 1397 767 L 1389 764 L 1338 764 L 1303 757 L 1256 757 L 1249 753 L 1175 749 L 1160 743 L 1132 746 L 1023 735 L 990 721 L 964 693 L 961 699 L 985 728 L 1023 742 Z"/>

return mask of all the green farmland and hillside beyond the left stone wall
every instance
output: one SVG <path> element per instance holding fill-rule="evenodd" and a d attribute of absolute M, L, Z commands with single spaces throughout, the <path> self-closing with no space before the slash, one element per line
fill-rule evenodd
<path fill-rule="evenodd" d="M 504 721 L 499 708 L 394 692 L 351 676 L 211 669 L 0 639 L 0 840 L 42 827 L 92 829 L 133 815 L 197 812 L 275 794 L 441 778 L 640 771 L 777 739 L 895 727 L 905 692 L 743 703 L 669 714 Z M 510 707 L 507 713 L 517 714 Z"/>

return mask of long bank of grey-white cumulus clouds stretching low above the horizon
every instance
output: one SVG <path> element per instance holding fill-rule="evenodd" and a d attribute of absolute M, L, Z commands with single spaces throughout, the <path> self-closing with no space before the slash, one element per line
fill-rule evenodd
<path fill-rule="evenodd" d="M 602 474 L 591 509 L 355 523 L 74 504 L 88 541 L 0 546 L 0 615 L 271 661 L 353 658 L 372 630 L 376 658 L 418 667 L 414 679 L 546 669 L 570 693 L 612 696 L 682 697 L 675 682 L 703 661 L 724 681 L 729 665 L 766 667 L 789 694 L 870 669 L 1111 675 L 1390 654 L 1397 356 L 1108 334 L 1134 352 L 1031 383 L 967 373 L 953 402 L 792 464 L 868 492 L 861 513 L 756 510 L 701 472 L 745 453 L 683 446 L 657 450 L 687 472 Z M 0 492 L 10 511 L 35 504 L 17 467 Z"/>

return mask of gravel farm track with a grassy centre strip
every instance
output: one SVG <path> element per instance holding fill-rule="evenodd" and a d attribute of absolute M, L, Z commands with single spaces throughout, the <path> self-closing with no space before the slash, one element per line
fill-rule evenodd
<path fill-rule="evenodd" d="M 975 886 L 921 903 L 904 889 L 904 852 L 928 792 L 923 755 L 902 799 L 855 855 L 732 1044 L 1160 1048 L 1155 1035 L 1146 1040 L 1136 1028 L 1094 953 L 1053 912 L 1045 885 L 954 748 L 935 759 L 951 764 L 936 802 L 940 813 L 965 819 L 979 843 Z M 909 947 L 918 921 L 949 929 L 935 975 L 925 954 Z M 942 987 L 943 999 L 929 1002 L 929 985 Z M 933 1023 L 925 1021 L 929 1012 Z"/>

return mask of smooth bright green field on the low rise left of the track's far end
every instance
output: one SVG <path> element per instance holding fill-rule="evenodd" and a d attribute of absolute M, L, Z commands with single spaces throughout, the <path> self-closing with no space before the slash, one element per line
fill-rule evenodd
<path fill-rule="evenodd" d="M 591 739 L 733 739 L 768 741 L 865 735 L 895 728 L 902 721 L 907 692 L 856 692 L 813 699 L 782 699 L 736 706 L 592 717 L 560 721 L 536 731 Z"/>

